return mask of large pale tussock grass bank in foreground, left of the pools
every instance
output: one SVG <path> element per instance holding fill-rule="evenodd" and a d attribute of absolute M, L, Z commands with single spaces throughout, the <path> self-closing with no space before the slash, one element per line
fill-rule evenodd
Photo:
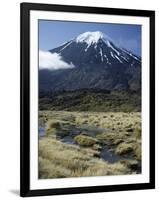
<path fill-rule="evenodd" d="M 52 138 L 39 141 L 39 178 L 130 174 L 122 163 L 109 164 L 94 157 L 96 151 L 64 144 Z"/>

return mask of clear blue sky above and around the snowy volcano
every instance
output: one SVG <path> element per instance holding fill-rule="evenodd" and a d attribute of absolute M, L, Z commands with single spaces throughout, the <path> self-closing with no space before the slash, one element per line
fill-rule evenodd
<path fill-rule="evenodd" d="M 86 31 L 101 31 L 118 45 L 141 56 L 141 26 L 129 24 L 39 20 L 39 49 L 53 49 Z"/>

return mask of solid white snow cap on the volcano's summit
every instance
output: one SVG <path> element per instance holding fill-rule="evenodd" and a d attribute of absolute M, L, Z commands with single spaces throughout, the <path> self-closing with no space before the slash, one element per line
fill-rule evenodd
<path fill-rule="evenodd" d="M 76 37 L 76 42 L 86 42 L 88 45 L 95 44 L 99 39 L 103 39 L 104 34 L 100 31 L 85 32 Z"/>

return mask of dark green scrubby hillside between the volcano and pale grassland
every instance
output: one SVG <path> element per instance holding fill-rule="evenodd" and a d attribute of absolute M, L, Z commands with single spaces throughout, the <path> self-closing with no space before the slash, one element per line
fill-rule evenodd
<path fill-rule="evenodd" d="M 76 90 L 40 93 L 40 110 L 131 112 L 141 111 L 139 93 Z"/>

